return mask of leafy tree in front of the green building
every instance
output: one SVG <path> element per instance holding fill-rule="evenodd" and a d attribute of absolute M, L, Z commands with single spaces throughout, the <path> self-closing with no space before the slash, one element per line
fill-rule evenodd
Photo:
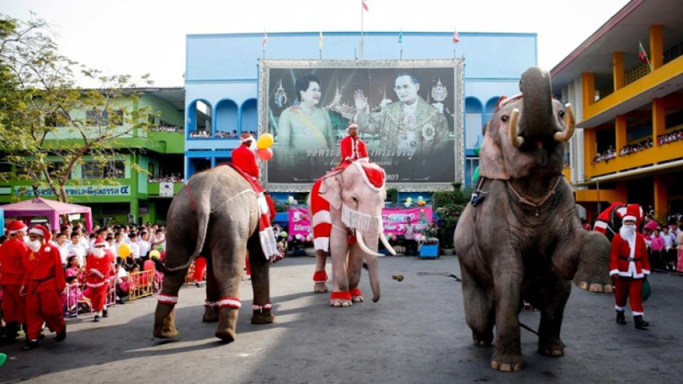
<path fill-rule="evenodd" d="M 151 84 L 149 75 L 142 80 Z M 97 87 L 78 86 L 84 82 Z M 132 151 L 126 139 L 146 137 L 149 126 L 135 88 L 129 75 L 103 75 L 60 55 L 45 21 L 0 14 L 0 148 L 17 170 L 0 179 L 31 181 L 34 196 L 49 188 L 67 202 L 67 183 L 83 183 L 70 175 L 87 160 L 102 174 L 97 183 L 117 183 L 117 152 Z"/>

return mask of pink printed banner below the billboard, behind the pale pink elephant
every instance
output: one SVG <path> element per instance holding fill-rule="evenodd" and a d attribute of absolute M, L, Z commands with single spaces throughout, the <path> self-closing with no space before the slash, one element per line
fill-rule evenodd
<path fill-rule="evenodd" d="M 382 221 L 384 234 L 403 235 L 406 232 L 404 226 L 407 218 L 411 218 L 415 225 L 415 233 L 422 233 L 433 222 L 433 210 L 431 206 L 418 206 L 415 208 L 383 208 Z M 290 208 L 288 235 L 308 236 L 311 234 L 311 220 L 307 208 Z"/>

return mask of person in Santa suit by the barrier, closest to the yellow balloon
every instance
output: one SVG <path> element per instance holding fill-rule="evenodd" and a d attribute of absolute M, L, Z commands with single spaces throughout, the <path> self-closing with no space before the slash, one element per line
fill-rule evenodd
<path fill-rule="evenodd" d="M 97 238 L 92 253 L 85 261 L 85 285 L 88 286 L 92 310 L 95 311 L 95 319 L 92 321 L 100 321 L 100 316 L 108 316 L 105 304 L 109 278 L 114 272 L 114 259 L 114 251 L 107 249 L 107 242 Z"/>

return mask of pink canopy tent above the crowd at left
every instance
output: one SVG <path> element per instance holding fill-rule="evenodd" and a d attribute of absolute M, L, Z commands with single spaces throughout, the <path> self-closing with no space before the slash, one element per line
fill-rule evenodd
<path fill-rule="evenodd" d="M 76 204 L 61 203 L 60 201 L 48 200 L 47 198 L 34 198 L 33 200 L 21 201 L 14 204 L 0 206 L 5 216 L 46 216 L 50 221 L 52 230 L 59 230 L 59 216 L 85 213 L 85 227 L 92 232 L 92 210 L 90 207 Z"/>

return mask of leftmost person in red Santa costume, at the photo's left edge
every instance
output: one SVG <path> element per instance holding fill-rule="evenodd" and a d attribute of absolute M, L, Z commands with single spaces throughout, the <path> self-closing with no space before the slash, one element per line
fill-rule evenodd
<path fill-rule="evenodd" d="M 6 321 L 6 336 L 0 341 L 11 344 L 16 341 L 20 324 L 26 324 L 26 297 L 19 294 L 23 275 L 23 258 L 28 255 L 28 245 L 23 241 L 28 227 L 15 220 L 7 228 L 9 240 L 0 247 L 0 289 L 3 298 L 2 314 Z"/>

